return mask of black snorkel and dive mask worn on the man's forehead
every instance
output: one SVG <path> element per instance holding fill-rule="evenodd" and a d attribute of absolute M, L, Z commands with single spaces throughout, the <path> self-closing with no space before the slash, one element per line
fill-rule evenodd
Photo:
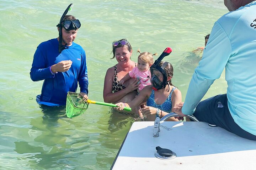
<path fill-rule="evenodd" d="M 59 27 L 59 53 L 62 52 L 62 50 L 66 49 L 66 45 L 62 45 L 62 27 L 66 30 L 66 31 L 70 31 L 70 30 L 76 30 L 78 28 L 81 27 L 81 23 L 78 19 L 75 19 L 73 21 L 71 20 L 63 20 L 64 17 L 66 16 L 66 14 L 68 13 L 68 11 L 71 11 L 73 7 L 73 4 L 70 4 L 66 10 L 64 11 L 64 13 L 62 14 L 62 17 L 60 18 L 60 22 L 56 27 Z"/>

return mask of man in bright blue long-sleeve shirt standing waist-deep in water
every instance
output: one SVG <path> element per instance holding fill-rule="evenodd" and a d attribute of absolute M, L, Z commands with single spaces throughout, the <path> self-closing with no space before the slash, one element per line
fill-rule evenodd
<path fill-rule="evenodd" d="M 59 52 L 59 38 L 42 42 L 34 53 L 30 77 L 33 81 L 44 80 L 41 95 L 37 102 L 47 106 L 66 104 L 68 91 L 76 92 L 78 83 L 80 94 L 88 94 L 88 76 L 84 49 L 75 42 L 81 24 L 72 15 L 65 15 L 58 31 L 62 39 L 62 51 Z M 60 29 L 61 28 L 61 29 Z"/>

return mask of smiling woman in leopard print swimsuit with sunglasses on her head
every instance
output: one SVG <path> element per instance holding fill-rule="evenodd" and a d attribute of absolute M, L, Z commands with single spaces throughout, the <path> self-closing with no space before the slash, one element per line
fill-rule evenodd
<path fill-rule="evenodd" d="M 129 102 L 137 95 L 139 80 L 130 79 L 119 84 L 127 73 L 136 67 L 136 63 L 130 60 L 132 56 L 132 47 L 126 39 L 114 41 L 112 44 L 113 58 L 116 58 L 117 64 L 110 67 L 105 75 L 103 99 L 108 103 Z M 113 59 L 112 58 L 112 59 Z"/>

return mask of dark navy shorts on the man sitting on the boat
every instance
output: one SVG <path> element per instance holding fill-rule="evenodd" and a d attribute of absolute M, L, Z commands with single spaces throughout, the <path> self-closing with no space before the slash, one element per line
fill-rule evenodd
<path fill-rule="evenodd" d="M 256 140 L 255 135 L 243 130 L 235 123 L 228 109 L 226 94 L 210 97 L 199 102 L 193 115 L 199 121 L 219 126 L 243 138 Z"/>

